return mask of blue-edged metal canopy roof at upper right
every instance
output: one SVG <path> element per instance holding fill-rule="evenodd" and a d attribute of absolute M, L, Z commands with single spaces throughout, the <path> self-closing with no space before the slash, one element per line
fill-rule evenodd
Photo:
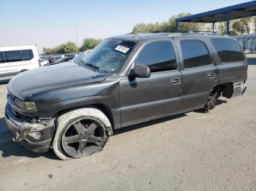
<path fill-rule="evenodd" d="M 256 1 L 249 1 L 230 7 L 214 9 L 212 11 L 202 12 L 196 15 L 181 17 L 176 19 L 176 22 L 217 23 L 227 20 L 227 12 L 229 12 L 230 20 L 255 16 Z"/>

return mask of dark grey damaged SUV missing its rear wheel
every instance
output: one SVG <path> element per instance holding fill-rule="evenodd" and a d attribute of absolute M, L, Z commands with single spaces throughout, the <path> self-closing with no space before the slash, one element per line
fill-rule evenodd
<path fill-rule="evenodd" d="M 82 63 L 26 71 L 8 85 L 14 141 L 62 160 L 101 151 L 113 130 L 214 109 L 246 90 L 240 45 L 215 34 L 137 34 L 105 39 Z"/>

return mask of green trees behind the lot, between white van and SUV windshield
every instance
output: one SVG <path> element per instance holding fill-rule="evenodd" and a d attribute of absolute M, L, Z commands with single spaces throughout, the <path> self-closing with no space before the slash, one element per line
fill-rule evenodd
<path fill-rule="evenodd" d="M 53 48 L 43 48 L 42 51 L 45 55 L 53 55 L 53 54 L 66 54 L 66 53 L 75 53 L 78 52 L 78 47 L 74 42 L 67 42 L 65 44 L 61 44 L 59 47 Z"/>

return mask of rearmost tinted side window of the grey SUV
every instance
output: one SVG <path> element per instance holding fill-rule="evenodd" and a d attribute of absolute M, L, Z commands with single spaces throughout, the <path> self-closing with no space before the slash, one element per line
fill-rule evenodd
<path fill-rule="evenodd" d="M 235 39 L 213 39 L 215 49 L 222 63 L 244 61 L 244 53 Z"/>

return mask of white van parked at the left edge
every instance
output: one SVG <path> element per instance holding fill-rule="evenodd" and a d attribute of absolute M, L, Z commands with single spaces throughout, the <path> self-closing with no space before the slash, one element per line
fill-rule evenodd
<path fill-rule="evenodd" d="M 0 47 L 0 79 L 10 79 L 29 69 L 39 68 L 36 45 Z"/>

